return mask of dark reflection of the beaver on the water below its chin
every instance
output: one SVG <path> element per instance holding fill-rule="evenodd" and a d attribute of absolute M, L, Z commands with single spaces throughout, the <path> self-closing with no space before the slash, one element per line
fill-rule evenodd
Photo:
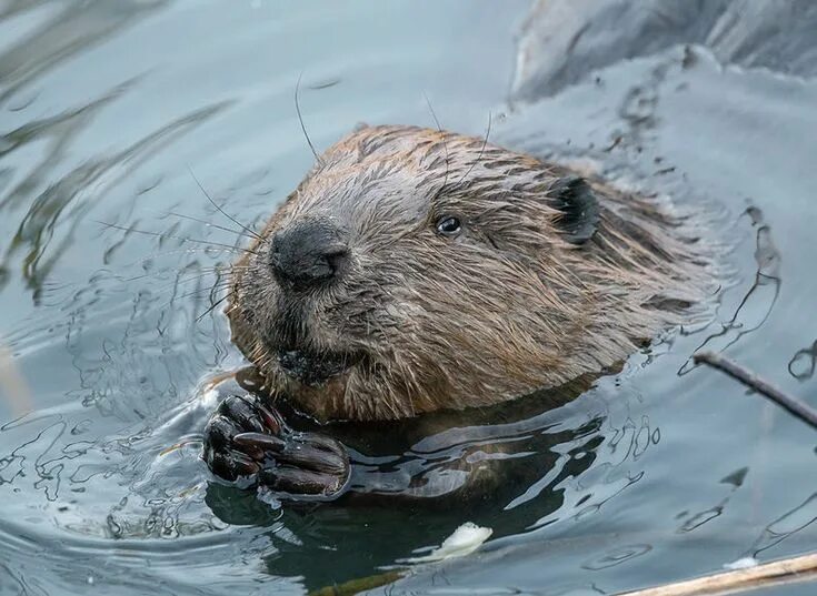
<path fill-rule="evenodd" d="M 577 420 L 554 408 L 588 384 L 393 424 L 332 425 L 356 468 L 352 491 L 333 503 L 275 509 L 216 483 L 207 503 L 227 523 L 271 526 L 268 569 L 301 576 L 310 589 L 375 574 L 467 521 L 494 538 L 525 532 L 562 506 L 560 484 L 588 469 L 604 442 L 602 415 Z"/>

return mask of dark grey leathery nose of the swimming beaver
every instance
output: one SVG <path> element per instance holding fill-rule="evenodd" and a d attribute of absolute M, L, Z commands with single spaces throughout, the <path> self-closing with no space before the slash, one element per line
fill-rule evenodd
<path fill-rule="evenodd" d="M 339 277 L 348 260 L 346 234 L 328 219 L 298 221 L 272 236 L 272 273 L 278 281 L 297 287 Z"/>

